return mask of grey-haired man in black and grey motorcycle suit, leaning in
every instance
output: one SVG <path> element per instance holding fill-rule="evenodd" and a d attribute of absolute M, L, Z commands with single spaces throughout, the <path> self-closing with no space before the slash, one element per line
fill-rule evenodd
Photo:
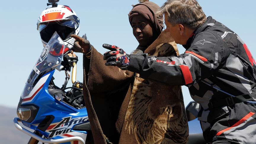
<path fill-rule="evenodd" d="M 188 86 L 200 104 L 198 120 L 207 142 L 255 143 L 256 63 L 246 44 L 222 23 L 206 18 L 196 0 L 168 0 L 158 14 L 164 14 L 166 30 L 183 45 L 184 54 L 111 60 L 113 51 L 105 53 L 106 65 L 125 67 L 143 79 Z"/>

